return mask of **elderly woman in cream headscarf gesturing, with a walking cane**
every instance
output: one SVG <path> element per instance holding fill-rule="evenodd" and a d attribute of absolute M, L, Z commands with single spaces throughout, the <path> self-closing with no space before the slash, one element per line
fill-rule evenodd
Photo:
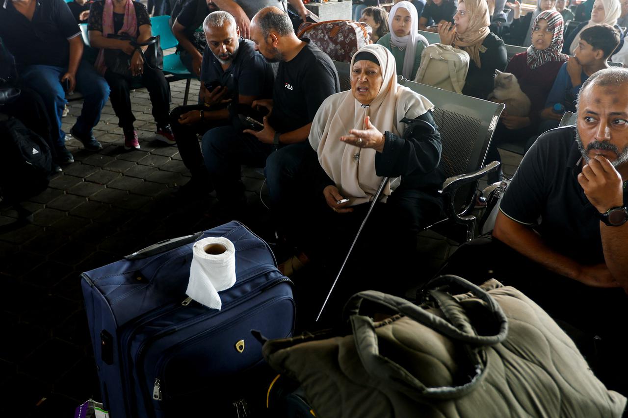
<path fill-rule="evenodd" d="M 282 215 L 292 215 L 287 225 L 295 234 L 291 238 L 308 257 L 335 266 L 347 254 L 382 178 L 391 178 L 352 253 L 353 259 L 361 260 L 356 261 L 359 266 L 368 266 L 378 277 L 372 270 L 378 263 L 360 258 L 372 257 L 366 249 L 381 245 L 379 264 L 387 268 L 413 259 L 416 233 L 441 211 L 438 188 L 445 176 L 439 166 L 440 134 L 431 115 L 433 105 L 397 83 L 394 57 L 386 48 L 361 48 L 350 68 L 351 90 L 328 97 L 312 122 L 309 141 L 315 153 L 302 164 L 303 179 L 294 185 L 300 188 L 299 195 L 310 198 L 298 211 L 292 207 L 291 213 Z M 312 193 L 305 192 L 304 185 Z M 298 232 L 290 227 L 295 223 L 302 225 Z M 304 257 L 284 263 L 284 272 Z"/>

